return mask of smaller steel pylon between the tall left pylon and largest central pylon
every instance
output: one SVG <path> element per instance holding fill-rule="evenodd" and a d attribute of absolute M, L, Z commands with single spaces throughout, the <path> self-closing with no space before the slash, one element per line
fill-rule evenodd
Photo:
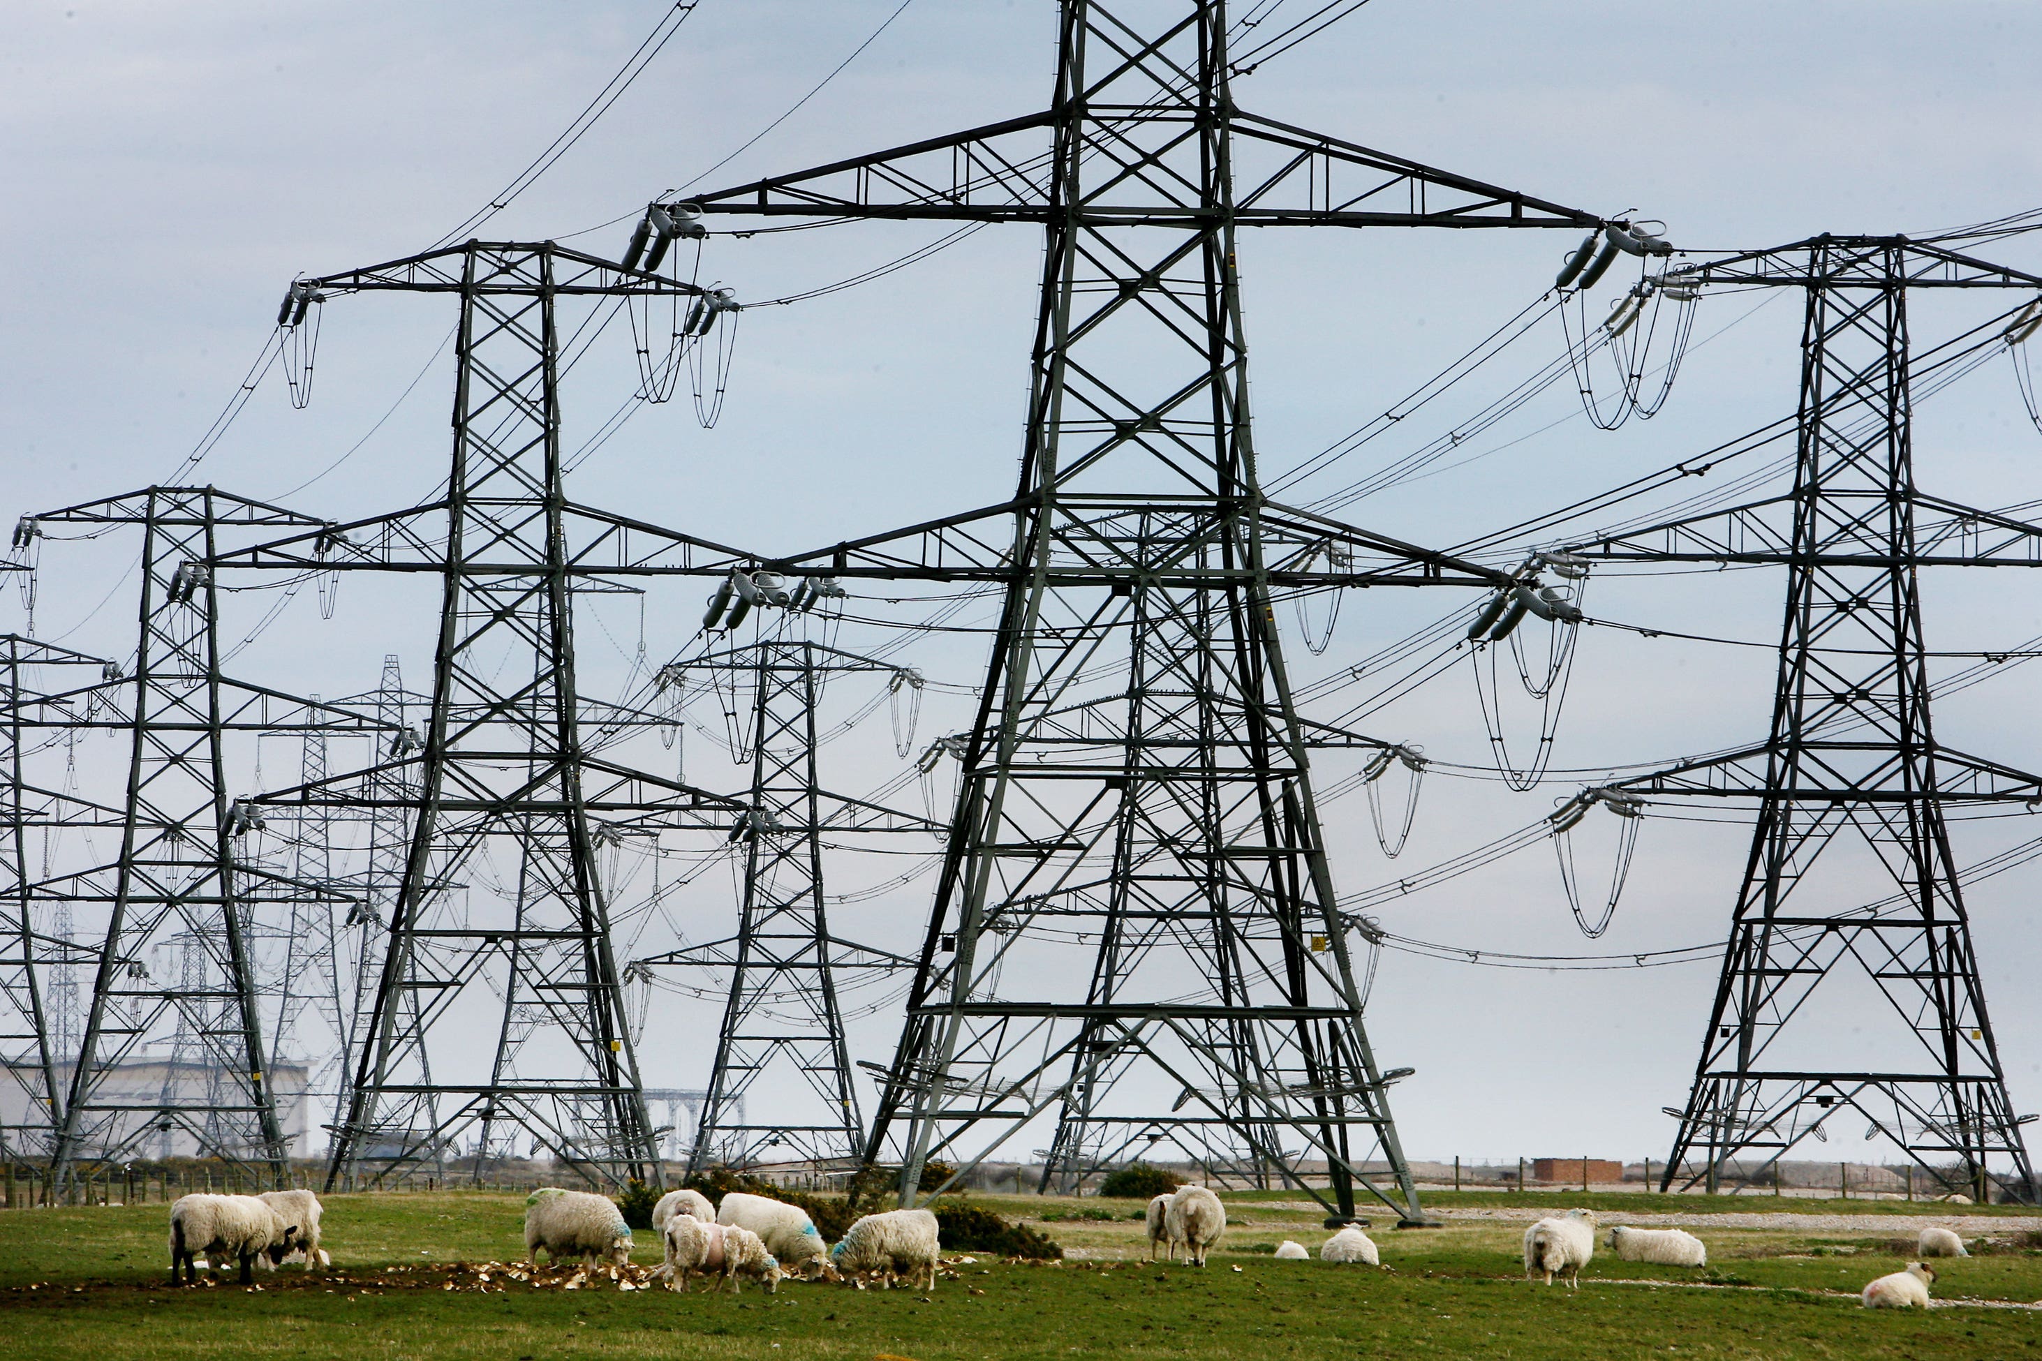
<path fill-rule="evenodd" d="M 831 935 L 823 900 L 823 837 L 943 828 L 927 818 L 831 794 L 817 771 L 817 702 L 835 675 L 919 675 L 807 639 L 762 639 L 717 649 L 662 671 L 664 686 L 690 673 L 751 684 L 747 716 L 751 790 L 729 839 L 743 843 L 737 935 L 635 961 L 731 971 L 709 1094 L 688 1153 L 688 1173 L 711 1165 L 809 1163 L 852 1167 L 864 1151 L 864 1120 L 837 1006 L 837 973 L 911 967 L 911 959 Z M 790 994 L 790 996 L 788 996 Z M 745 1120 L 745 1098 L 768 1092 L 786 1116 Z"/>

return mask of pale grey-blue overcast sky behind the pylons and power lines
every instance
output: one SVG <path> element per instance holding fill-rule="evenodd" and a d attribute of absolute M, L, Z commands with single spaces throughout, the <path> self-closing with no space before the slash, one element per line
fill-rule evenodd
<path fill-rule="evenodd" d="M 16 0 L 0 45 L 0 514 L 172 475 L 263 347 L 294 273 L 406 255 L 455 229 L 553 141 L 666 8 Z M 702 0 L 629 94 L 488 235 L 572 235 L 598 253 L 621 251 L 647 198 L 749 141 L 894 8 Z M 913 0 L 713 180 L 1037 108 L 1052 41 L 1048 0 Z M 2042 206 L 2038 69 L 2042 6 L 2024 0 L 1374 0 L 1244 78 L 1235 96 L 1286 122 L 1593 212 L 1636 208 L 1664 220 L 1679 247 L 1725 249 L 1821 231 L 1930 233 Z M 717 237 L 702 278 L 745 300 L 776 298 L 937 235 L 870 224 Z M 1309 457 L 1419 386 L 1540 298 L 1570 247 L 1572 235 L 1558 233 L 1250 237 L 1242 269 L 1264 467 Z M 2036 267 L 2038 247 L 2009 239 L 1981 253 Z M 578 473 L 578 500 L 760 549 L 1001 500 L 1019 451 L 1037 255 L 1027 229 L 984 231 L 884 280 L 747 312 L 717 429 L 698 429 L 684 398 L 633 416 Z M 1913 335 L 1932 345 L 1981 314 L 1975 300 L 1922 302 Z M 449 326 L 437 300 L 329 304 L 310 408 L 292 410 L 272 371 L 188 475 L 274 498 L 353 449 L 288 500 L 345 518 L 427 496 L 445 453 L 449 365 L 433 357 Z M 1452 467 L 1344 514 L 1421 543 L 1460 543 L 1705 449 L 1793 408 L 1799 326 L 1795 298 L 1711 298 L 1695 326 L 1705 343 L 1660 418 L 1599 433 L 1560 384 Z M 1452 410 L 1370 445 L 1311 488 L 1352 482 L 1452 431 L 1560 349 L 1556 326 L 1534 333 Z M 596 429 L 633 382 L 623 345 L 598 351 L 570 388 L 570 437 Z M 1928 488 L 1985 506 L 2042 496 L 2042 433 L 2003 359 L 1924 402 L 1915 443 Z M 114 590 L 131 555 L 110 541 L 47 545 L 37 633 L 110 655 L 133 649 L 131 604 Z M 1585 631 L 1556 765 L 1646 763 L 1760 737 L 1779 592 L 1768 573 L 1597 579 L 1593 614 L 1754 647 Z M 1926 598 L 1934 647 L 2042 635 L 2042 582 L 2026 573 L 1942 573 Z M 294 602 L 241 669 L 341 694 L 374 686 L 382 655 L 402 653 L 421 679 L 431 651 L 419 604 L 347 582 L 333 620 Z M 245 626 L 268 600 L 235 608 Z M 696 608 L 692 596 L 649 606 L 649 649 L 682 647 Z M 1333 673 L 1444 610 L 1356 598 L 1323 657 L 1297 651 L 1309 673 Z M 25 624 L 8 592 L 0 628 Z M 641 624 L 617 614 L 604 626 L 619 643 L 606 665 L 621 677 Z M 970 684 L 978 647 L 933 645 L 917 661 Z M 2042 671 L 2009 669 L 1952 698 L 1938 710 L 1942 737 L 2042 767 L 2038 682 Z M 945 716 L 941 700 L 931 704 L 933 728 Z M 1523 741 L 1531 710 L 1517 702 L 1509 716 Z M 1466 665 L 1368 722 L 1444 761 L 1489 761 Z M 868 788 L 894 757 L 884 735 L 860 741 L 847 745 L 841 782 Z M 1397 861 L 1376 849 L 1360 796 L 1340 802 L 1327 810 L 1340 886 L 1368 888 L 1493 841 L 1574 788 L 1509 794 L 1495 779 L 1436 773 Z M 2026 826 L 1958 826 L 1958 859 L 2042 830 Z M 1607 877 L 1609 845 L 1587 833 L 1578 851 L 1593 881 Z M 1721 939 L 1744 843 L 1742 824 L 1650 818 L 1601 941 L 1576 932 L 1544 845 L 1378 916 L 1401 935 L 1478 951 L 1701 945 Z M 1881 892 L 1873 879 L 1860 888 Z M 2042 1108 L 2036 888 L 2034 873 L 2015 871 L 1973 894 L 2020 1110 Z M 880 898 L 858 930 L 905 945 L 925 898 L 925 881 Z M 686 932 L 709 939 L 725 908 L 727 894 L 721 908 L 704 896 Z M 1370 1030 L 1387 1065 L 1417 1067 L 1397 1088 L 1405 1147 L 1419 1157 L 1662 1155 L 1672 1128 L 1658 1112 L 1687 1092 L 1713 981 L 1709 961 L 1513 971 L 1384 953 Z M 1858 1002 L 1866 1016 L 1881 1006 Z M 698 1026 L 713 1020 L 702 1006 L 676 1008 L 655 1079 L 700 1086 L 713 1028 Z M 858 1020 L 856 1043 L 884 1051 L 892 1024 L 876 1006 Z M 1852 1141 L 1830 1147 L 1854 1157 Z"/>

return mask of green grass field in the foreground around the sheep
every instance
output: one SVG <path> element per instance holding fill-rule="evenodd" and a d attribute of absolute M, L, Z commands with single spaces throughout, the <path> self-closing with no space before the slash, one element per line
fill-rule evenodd
<path fill-rule="evenodd" d="M 1446 1198 L 1444 1198 L 1446 1200 Z M 1466 1200 L 1497 1206 L 1497 1196 Z M 1564 1198 L 1521 1196 L 1560 1204 Z M 1617 1200 L 1617 1198 L 1609 1198 Z M 1648 1208 L 1646 1200 L 1627 1206 Z M 1750 1212 L 1756 1198 L 1679 1210 Z M 506 1294 L 447 1292 L 445 1263 L 510 1261 L 521 1253 L 523 1198 L 394 1194 L 327 1198 L 333 1277 L 296 1269 L 231 1277 L 212 1288 L 167 1281 L 163 1206 L 0 1212 L 0 1353 L 41 1361 L 90 1357 L 717 1357 L 796 1361 L 911 1357 L 1019 1361 L 1033 1357 L 2042 1357 L 2042 1253 L 2005 1251 L 1940 1263 L 1928 1314 L 1860 1310 L 1858 1286 L 1897 1269 L 1893 1234 L 1856 1230 L 1701 1228 L 1707 1271 L 1619 1263 L 1599 1255 L 1581 1292 L 1521 1275 L 1521 1224 L 1374 1230 L 1389 1271 L 1278 1263 L 1291 1237 L 1317 1249 L 1319 1216 L 1295 1198 L 1229 1204 L 1231 1226 L 1205 1271 L 1141 1261 L 1133 1202 L 988 1196 L 980 1204 L 1039 1218 L 1111 1208 L 1113 1222 L 1041 1224 L 1064 1265 L 956 1265 L 923 1298 L 788 1283 L 776 1298 L 674 1296 L 666 1290 L 580 1292 L 510 1283 Z M 1844 1202 L 1787 1202 L 1811 1212 Z M 1856 1212 L 1862 1202 L 1850 1202 Z M 1605 1222 L 1621 1218 L 1605 1206 Z M 1964 1216 L 1966 1237 L 1997 1214 Z M 655 1263 L 649 1232 L 637 1261 Z M 396 1269 L 408 1267 L 408 1269 Z M 470 1277 L 461 1277 L 472 1281 Z M 502 1277 L 498 1275 L 500 1283 Z M 1840 1294 L 1850 1292 L 1850 1294 Z M 1999 1304 L 1997 1308 L 1993 1304 Z"/>

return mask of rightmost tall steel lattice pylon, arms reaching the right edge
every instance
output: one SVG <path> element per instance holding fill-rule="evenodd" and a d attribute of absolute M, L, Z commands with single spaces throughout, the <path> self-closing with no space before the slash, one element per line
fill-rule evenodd
<path fill-rule="evenodd" d="M 1801 288 L 1807 320 L 1787 496 L 1572 545 L 1619 563 L 1787 567 L 1766 741 L 1613 786 L 1758 802 L 1662 1190 L 1713 1188 L 1734 1157 L 1770 1163 L 1828 1137 L 1826 1124 L 1862 1118 L 1950 1190 L 1977 1194 L 1987 1159 L 2003 1159 L 2009 1188 L 2032 1198 L 1944 808 L 2036 800 L 2042 777 L 1936 741 L 1917 575 L 2042 565 L 2042 524 L 1915 490 L 1907 298 L 2034 290 L 2042 278 L 1897 237 L 1819 237 L 1670 278 Z M 1811 879 L 1817 861 L 1828 877 Z M 1852 865 L 1891 875 L 1897 892 L 1858 906 Z M 1852 979 L 1889 1010 L 1868 1018 Z M 1850 1043 L 1846 1014 L 1862 1022 Z"/>

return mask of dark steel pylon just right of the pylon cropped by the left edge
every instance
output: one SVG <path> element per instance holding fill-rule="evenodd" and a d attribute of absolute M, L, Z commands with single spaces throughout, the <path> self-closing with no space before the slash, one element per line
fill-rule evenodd
<path fill-rule="evenodd" d="M 35 533 L 139 526 L 141 635 L 133 669 L 39 700 L 35 722 L 104 730 L 127 743 L 125 794 L 104 804 L 59 800 L 71 824 L 106 826 L 112 859 L 88 845 L 84 865 L 33 875 L 25 896 L 84 908 L 102 920 L 94 986 L 65 1096 L 53 1161 L 67 1183 L 80 1161 L 120 1159 L 155 1135 L 182 1130 L 206 1157 L 257 1167 L 282 1183 L 288 1149 L 265 1077 L 257 914 L 280 898 L 327 892 L 243 855 L 251 830 L 235 798 L 229 743 L 290 730 L 363 733 L 374 720 L 223 673 L 218 596 L 204 563 L 235 537 L 317 524 L 290 510 L 216 488 L 147 488 L 31 516 Z M 76 816 L 69 816 L 76 810 Z M 112 814 L 112 816 L 108 816 Z M 153 975 L 151 955 L 182 943 L 176 979 Z M 145 1047 L 196 1047 L 204 1090 L 165 1081 L 137 1088 L 125 1065 Z"/>

